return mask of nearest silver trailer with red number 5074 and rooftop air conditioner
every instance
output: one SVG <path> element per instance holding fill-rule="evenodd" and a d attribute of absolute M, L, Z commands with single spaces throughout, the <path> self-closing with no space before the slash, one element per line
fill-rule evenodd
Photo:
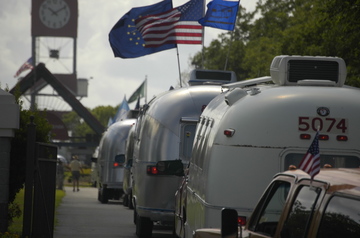
<path fill-rule="evenodd" d="M 244 225 L 268 181 L 297 167 L 317 132 L 321 167 L 359 168 L 360 90 L 344 85 L 345 61 L 276 56 L 270 75 L 224 85 L 224 93 L 201 114 L 190 163 L 176 193 L 176 237 L 219 228 L 223 208 L 235 209 L 239 225 Z M 271 209 L 265 213 L 280 216 Z M 257 219 L 274 223 L 264 217 Z M 264 234 L 261 237 L 269 237 Z"/>

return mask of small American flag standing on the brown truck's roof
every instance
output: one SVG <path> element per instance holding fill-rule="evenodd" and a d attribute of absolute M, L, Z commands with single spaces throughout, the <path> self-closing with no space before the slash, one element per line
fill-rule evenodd
<path fill-rule="evenodd" d="M 311 143 L 306 155 L 301 160 L 299 169 L 308 173 L 311 179 L 320 172 L 320 151 L 319 151 L 319 131 Z"/>

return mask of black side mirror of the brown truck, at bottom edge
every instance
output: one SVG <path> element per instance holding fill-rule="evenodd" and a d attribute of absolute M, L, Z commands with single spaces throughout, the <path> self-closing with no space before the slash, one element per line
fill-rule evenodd
<path fill-rule="evenodd" d="M 221 237 L 238 237 L 238 214 L 236 210 L 224 208 L 221 211 Z"/>

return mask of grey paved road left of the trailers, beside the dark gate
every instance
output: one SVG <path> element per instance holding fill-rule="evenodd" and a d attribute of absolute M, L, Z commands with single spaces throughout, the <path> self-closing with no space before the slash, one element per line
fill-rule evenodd
<path fill-rule="evenodd" d="M 80 188 L 73 192 L 65 187 L 66 196 L 57 209 L 58 224 L 54 238 L 136 238 L 133 210 L 119 201 L 101 204 L 96 188 Z M 171 232 L 154 230 L 153 238 L 171 238 Z"/>

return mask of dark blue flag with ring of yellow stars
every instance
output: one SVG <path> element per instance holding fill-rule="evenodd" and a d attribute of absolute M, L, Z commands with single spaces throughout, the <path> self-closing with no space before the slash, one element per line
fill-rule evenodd
<path fill-rule="evenodd" d="M 111 29 L 109 33 L 110 46 L 115 57 L 136 58 L 176 47 L 176 44 L 166 44 L 159 47 L 145 48 L 145 41 L 135 27 L 135 20 L 146 15 L 158 14 L 172 9 L 172 0 L 132 8 Z"/>

